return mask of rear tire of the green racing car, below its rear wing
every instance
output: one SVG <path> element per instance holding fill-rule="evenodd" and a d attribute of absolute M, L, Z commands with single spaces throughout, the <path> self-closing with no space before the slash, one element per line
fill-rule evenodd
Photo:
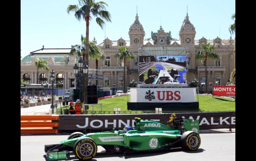
<path fill-rule="evenodd" d="M 193 131 L 186 131 L 181 136 L 181 145 L 184 150 L 196 150 L 201 144 L 200 136 Z"/>

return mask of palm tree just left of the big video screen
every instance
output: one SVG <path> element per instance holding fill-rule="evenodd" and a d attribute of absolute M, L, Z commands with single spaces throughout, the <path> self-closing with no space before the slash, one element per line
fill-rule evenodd
<path fill-rule="evenodd" d="M 125 63 L 126 63 L 126 60 L 136 59 L 135 54 L 134 53 L 129 53 L 128 49 L 129 49 L 129 47 L 127 47 L 127 46 L 118 46 L 118 50 L 119 50 L 120 53 L 117 53 L 117 54 L 114 55 L 114 57 L 119 58 L 121 62 L 124 62 L 124 77 L 123 77 L 124 92 L 125 92 Z"/>

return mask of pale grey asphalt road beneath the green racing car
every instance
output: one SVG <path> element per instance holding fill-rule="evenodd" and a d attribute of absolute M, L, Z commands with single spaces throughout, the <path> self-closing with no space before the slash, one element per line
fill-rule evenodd
<path fill-rule="evenodd" d="M 21 161 L 46 161 L 44 145 L 58 144 L 65 140 L 68 134 L 21 135 Z M 156 152 L 141 152 L 134 154 L 101 154 L 92 161 L 234 161 L 235 133 L 200 134 L 201 145 L 196 151 L 172 149 Z M 98 147 L 98 150 L 102 147 Z M 70 160 L 78 161 L 73 155 Z"/>

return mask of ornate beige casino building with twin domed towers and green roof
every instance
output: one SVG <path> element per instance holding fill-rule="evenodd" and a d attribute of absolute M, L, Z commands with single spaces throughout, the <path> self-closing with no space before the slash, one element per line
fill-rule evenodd
<path fill-rule="evenodd" d="M 127 27 L 128 29 L 128 27 Z M 124 40 L 122 37 L 118 40 L 111 40 L 106 38 L 103 42 L 97 44 L 95 38 L 92 42 L 96 43 L 106 55 L 104 60 L 98 60 L 98 69 L 102 70 L 102 79 L 98 81 L 101 87 L 113 88 L 115 93 L 117 90 L 123 90 L 123 86 L 128 87 L 130 80 L 134 77 L 139 79 L 139 55 L 142 56 L 144 48 L 165 49 L 165 48 L 184 48 L 184 54 L 188 54 L 188 84 L 190 84 L 193 77 L 199 79 L 199 91 L 205 91 L 205 66 L 204 62 L 195 59 L 195 53 L 199 51 L 202 43 L 210 43 L 215 46 L 215 52 L 219 55 L 220 60 L 207 61 L 208 72 L 208 91 L 212 90 L 212 85 L 226 85 L 229 76 L 233 69 L 235 69 L 235 50 L 234 43 L 231 37 L 227 40 L 221 38 L 207 39 L 202 36 L 199 40 L 194 40 L 196 30 L 187 16 L 181 24 L 179 32 L 179 39 L 171 37 L 171 32 L 164 31 L 162 26 L 157 33 L 151 33 L 151 38 L 145 38 L 145 31 L 142 24 L 139 22 L 138 14 L 135 16 L 134 23 L 131 24 L 129 30 L 129 40 Z M 133 52 L 138 58 L 131 59 L 126 62 L 126 66 L 114 57 L 118 53 L 118 45 L 129 46 L 129 51 Z M 73 66 L 76 62 L 75 57 L 68 56 L 71 48 L 65 49 L 49 49 L 43 48 L 31 52 L 21 60 L 21 79 L 28 83 L 37 83 L 35 67 L 35 60 L 43 58 L 47 60 L 47 65 L 52 70 L 54 69 L 57 76 L 56 83 L 64 80 L 64 88 L 75 87 L 75 76 L 73 74 Z M 156 50 L 156 52 L 158 52 Z M 95 69 L 95 60 L 89 59 L 89 68 Z M 126 75 L 123 75 L 125 68 Z M 125 79 L 125 84 L 123 80 Z M 48 80 L 50 82 L 50 73 L 39 70 L 39 83 Z M 90 85 L 95 84 L 95 80 L 89 80 Z"/>

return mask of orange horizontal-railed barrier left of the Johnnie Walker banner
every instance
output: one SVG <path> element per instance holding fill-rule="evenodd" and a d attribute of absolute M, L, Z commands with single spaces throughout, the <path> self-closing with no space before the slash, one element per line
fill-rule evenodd
<path fill-rule="evenodd" d="M 21 115 L 21 134 L 59 133 L 58 115 Z"/>

